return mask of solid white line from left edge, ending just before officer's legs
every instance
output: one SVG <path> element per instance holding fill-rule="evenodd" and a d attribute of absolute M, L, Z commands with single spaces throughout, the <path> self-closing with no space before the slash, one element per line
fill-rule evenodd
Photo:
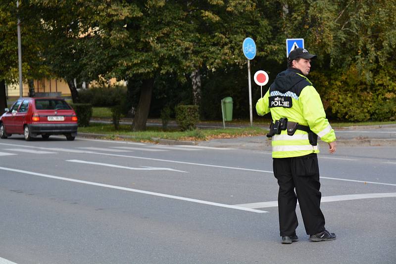
<path fill-rule="evenodd" d="M 239 207 L 239 206 L 235 206 L 235 205 L 213 203 L 213 202 L 197 200 L 197 199 L 191 199 L 191 198 L 186 198 L 186 197 L 181 197 L 181 196 L 163 194 L 163 193 L 158 193 L 158 192 L 143 191 L 143 190 L 132 189 L 132 188 L 127 188 L 127 187 L 103 184 L 103 183 L 99 183 L 99 182 L 92 182 L 92 181 L 86 181 L 86 180 L 79 180 L 79 179 L 65 178 L 65 177 L 59 177 L 59 176 L 52 176 L 52 175 L 28 172 L 28 171 L 17 170 L 17 169 L 12 169 L 12 168 L 0 167 L 0 170 L 9 171 L 9 172 L 16 172 L 16 173 L 22 173 L 22 174 L 28 174 L 28 175 L 34 175 L 34 176 L 40 176 L 40 177 L 46 177 L 46 178 L 52 178 L 52 179 L 71 181 L 71 182 L 77 182 L 77 183 L 83 183 L 83 184 L 88 184 L 88 185 L 100 186 L 100 187 L 117 189 L 117 190 L 123 190 L 123 191 L 129 191 L 129 192 L 143 193 L 143 194 L 148 194 L 148 195 L 153 195 L 153 196 L 160 196 L 160 197 L 171 198 L 171 199 L 182 200 L 182 201 L 188 201 L 188 202 L 193 202 L 193 203 L 198 203 L 198 204 L 213 205 L 213 206 L 218 206 L 218 207 L 237 209 L 237 210 L 254 212 L 254 213 L 268 213 L 267 211 L 255 210 L 255 209 Z"/>

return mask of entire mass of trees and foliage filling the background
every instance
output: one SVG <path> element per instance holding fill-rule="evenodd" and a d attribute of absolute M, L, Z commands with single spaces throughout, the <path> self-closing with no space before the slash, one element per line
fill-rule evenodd
<path fill-rule="evenodd" d="M 286 68 L 285 39 L 298 37 L 318 54 L 308 78 L 330 118 L 395 119 L 396 0 L 20 3 L 17 10 L 15 2 L 0 1 L 0 80 L 7 84 L 18 76 L 19 15 L 25 79 L 75 79 L 78 88 L 83 81 L 128 80 L 126 96 L 113 90 L 80 94 L 81 102 L 121 104 L 126 113 L 137 108 L 142 81 L 153 78 L 149 115 L 158 117 L 165 105 L 192 103 L 190 75 L 198 69 L 203 118 L 220 119 L 225 96 L 233 97 L 236 117 L 247 117 L 242 41 L 255 40 L 251 72 L 267 71 L 271 83 Z M 259 89 L 252 82 L 253 104 Z"/>

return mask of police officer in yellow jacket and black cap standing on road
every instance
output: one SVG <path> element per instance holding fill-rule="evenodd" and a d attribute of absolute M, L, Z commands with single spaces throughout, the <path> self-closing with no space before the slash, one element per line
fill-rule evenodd
<path fill-rule="evenodd" d="M 271 112 L 274 175 L 278 180 L 279 227 L 283 244 L 298 241 L 297 200 L 305 231 L 311 241 L 335 240 L 326 230 L 320 210 L 319 153 L 317 137 L 336 151 L 336 135 L 323 109 L 322 101 L 306 78 L 316 55 L 296 48 L 288 57 L 288 69 L 279 73 L 264 97 L 256 104 L 257 114 Z M 296 189 L 296 193 L 295 193 Z"/>

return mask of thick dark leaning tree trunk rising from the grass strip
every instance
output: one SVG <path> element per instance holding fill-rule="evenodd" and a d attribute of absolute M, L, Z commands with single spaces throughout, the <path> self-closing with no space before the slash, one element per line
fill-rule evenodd
<path fill-rule="evenodd" d="M 154 86 L 154 78 L 143 81 L 140 90 L 140 99 L 136 108 L 135 117 L 132 123 L 132 131 L 145 131 L 148 112 L 150 110 L 152 89 Z"/>

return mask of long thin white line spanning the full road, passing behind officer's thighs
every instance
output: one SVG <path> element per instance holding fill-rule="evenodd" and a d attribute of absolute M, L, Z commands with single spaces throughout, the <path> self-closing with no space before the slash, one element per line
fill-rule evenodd
<path fill-rule="evenodd" d="M 13 144 L 7 144 L 7 143 L 0 143 L 0 144 L 13 145 Z M 40 149 L 49 149 L 49 148 L 34 147 L 34 146 L 27 146 L 27 147 L 40 148 Z M 146 157 L 138 157 L 138 156 L 128 156 L 128 155 L 111 154 L 111 153 L 101 153 L 101 152 L 93 152 L 93 151 L 86 151 L 85 153 L 91 153 L 91 154 L 97 154 L 97 155 L 105 155 L 105 156 L 112 156 L 112 157 L 123 157 L 123 158 L 132 158 L 132 159 L 141 159 L 141 160 L 163 161 L 163 162 L 171 162 L 171 163 L 179 163 L 179 164 L 189 164 L 189 165 L 205 166 L 205 167 L 213 167 L 213 168 L 223 168 L 223 169 L 250 171 L 250 172 L 261 172 L 261 173 L 270 173 L 270 174 L 273 174 L 273 173 L 274 173 L 273 171 L 253 170 L 253 169 L 246 169 L 246 168 L 226 167 L 226 166 L 218 166 L 218 165 L 210 165 L 210 164 L 200 164 L 200 163 L 192 163 L 192 162 L 184 162 L 184 161 L 172 161 L 172 160 L 154 159 L 154 158 L 146 158 Z M 384 182 L 375 182 L 375 181 L 354 180 L 354 179 L 343 179 L 343 178 L 333 178 L 333 177 L 323 177 L 323 176 L 320 176 L 320 178 L 396 186 L 396 184 L 393 184 L 393 183 L 384 183 Z"/>

